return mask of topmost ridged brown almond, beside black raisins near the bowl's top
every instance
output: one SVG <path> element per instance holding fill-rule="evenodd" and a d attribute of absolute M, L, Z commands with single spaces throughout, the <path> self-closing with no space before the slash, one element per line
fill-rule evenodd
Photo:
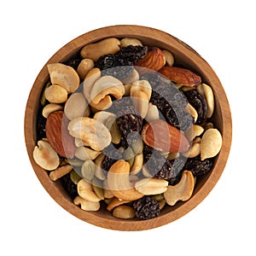
<path fill-rule="evenodd" d="M 166 57 L 163 52 L 157 47 L 151 47 L 148 49 L 147 54 L 142 60 L 136 63 L 137 67 L 147 67 L 148 69 L 159 71 L 166 65 Z M 140 73 L 148 73 L 148 71 L 139 70 Z"/>

